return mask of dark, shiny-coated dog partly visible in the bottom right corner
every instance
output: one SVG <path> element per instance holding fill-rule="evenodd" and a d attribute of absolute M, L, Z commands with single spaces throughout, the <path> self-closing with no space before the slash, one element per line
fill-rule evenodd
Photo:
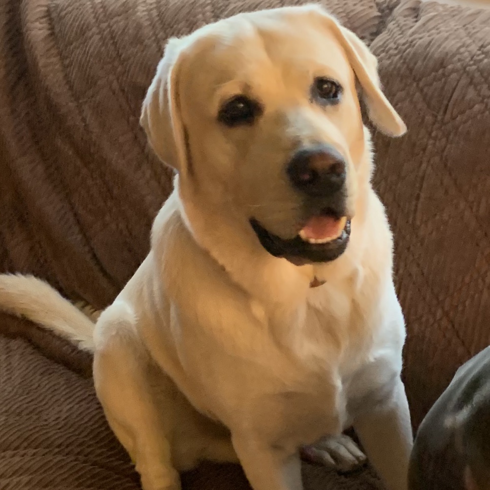
<path fill-rule="evenodd" d="M 441 449 L 443 448 L 441 456 Z M 425 453 L 437 454 L 466 490 L 490 490 L 490 347 L 471 358 L 424 417 L 410 459 L 410 490 L 427 490 L 434 470 Z"/>

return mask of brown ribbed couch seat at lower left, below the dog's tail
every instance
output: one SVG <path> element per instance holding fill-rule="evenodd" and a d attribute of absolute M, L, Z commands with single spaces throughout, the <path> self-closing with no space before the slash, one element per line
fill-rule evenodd
<path fill-rule="evenodd" d="M 11 330 L 19 326 L 14 325 L 19 320 L 4 316 L 0 322 Z M 44 343 L 49 351 L 46 337 Z M 138 488 L 138 477 L 96 402 L 90 376 L 50 361 L 25 340 L 3 336 L 0 488 Z"/>

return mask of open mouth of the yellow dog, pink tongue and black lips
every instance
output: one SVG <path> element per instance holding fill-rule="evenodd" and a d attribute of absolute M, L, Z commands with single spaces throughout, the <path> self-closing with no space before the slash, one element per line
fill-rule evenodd
<path fill-rule="evenodd" d="M 289 239 L 267 231 L 255 218 L 250 219 L 250 224 L 271 255 L 297 265 L 335 260 L 345 252 L 350 237 L 350 219 L 331 210 L 308 218 L 298 235 Z"/>

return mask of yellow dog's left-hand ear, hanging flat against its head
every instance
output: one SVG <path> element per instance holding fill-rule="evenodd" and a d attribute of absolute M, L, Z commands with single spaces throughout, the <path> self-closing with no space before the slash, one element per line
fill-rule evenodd
<path fill-rule="evenodd" d="M 140 124 L 156 155 L 182 175 L 188 158 L 180 110 L 179 72 L 184 57 L 181 46 L 179 39 L 168 41 L 143 101 Z"/>

